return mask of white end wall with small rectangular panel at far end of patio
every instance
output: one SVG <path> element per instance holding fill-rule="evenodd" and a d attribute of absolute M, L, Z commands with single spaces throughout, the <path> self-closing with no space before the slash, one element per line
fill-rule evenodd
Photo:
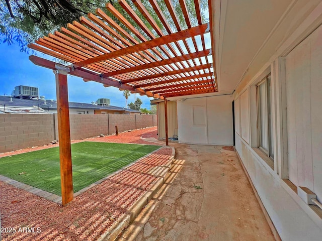
<path fill-rule="evenodd" d="M 232 145 L 230 95 L 177 101 L 180 143 Z"/>

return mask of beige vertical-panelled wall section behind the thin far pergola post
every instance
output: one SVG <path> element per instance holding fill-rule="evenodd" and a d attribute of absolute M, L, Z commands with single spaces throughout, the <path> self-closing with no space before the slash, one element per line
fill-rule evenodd
<path fill-rule="evenodd" d="M 178 136 L 177 102 L 167 101 L 168 137 Z M 165 103 L 157 103 L 157 133 L 159 138 L 166 138 Z"/>

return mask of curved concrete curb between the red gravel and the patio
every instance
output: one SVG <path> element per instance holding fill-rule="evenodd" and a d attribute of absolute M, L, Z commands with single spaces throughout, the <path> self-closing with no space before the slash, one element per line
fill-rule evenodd
<path fill-rule="evenodd" d="M 161 174 L 157 175 L 157 180 L 154 182 L 152 187 L 149 190 L 147 190 L 138 200 L 136 200 L 134 204 L 129 208 L 129 210 L 127 210 L 127 212 L 123 214 L 113 226 L 108 228 L 105 231 L 105 233 L 101 235 L 98 241 L 115 240 L 117 236 L 123 231 L 123 229 L 126 228 L 135 219 L 135 217 L 140 213 L 143 207 L 149 203 L 149 201 L 152 199 L 154 194 L 158 192 L 158 190 L 166 182 L 166 180 L 169 177 L 169 172 L 174 163 L 175 148 L 169 147 L 169 146 L 168 147 L 163 146 L 155 150 L 155 152 L 162 148 L 172 149 L 172 154 L 171 154 L 171 157 L 169 158 L 169 161 L 167 162 L 166 165 L 162 166 L 165 168 L 164 171 Z M 152 153 L 153 152 L 149 153 L 148 155 Z"/>

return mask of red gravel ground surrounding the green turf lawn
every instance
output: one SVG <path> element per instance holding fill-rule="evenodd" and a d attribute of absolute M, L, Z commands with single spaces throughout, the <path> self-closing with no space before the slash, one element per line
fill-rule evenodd
<path fill-rule="evenodd" d="M 149 128 L 91 141 L 152 144 L 141 137 L 154 135 L 155 128 Z M 43 148 L 47 147 L 23 151 Z M 152 186 L 156 177 L 148 172 L 166 164 L 171 154 L 170 148 L 158 150 L 78 195 L 65 207 L 0 181 L 1 224 L 15 230 L 3 232 L 3 240 L 97 240 Z"/>

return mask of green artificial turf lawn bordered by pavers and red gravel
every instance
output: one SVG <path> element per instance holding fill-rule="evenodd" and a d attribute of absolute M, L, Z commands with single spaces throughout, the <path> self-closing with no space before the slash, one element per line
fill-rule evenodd
<path fill-rule="evenodd" d="M 158 148 L 159 146 L 101 142 L 72 144 L 74 192 Z M 59 147 L 0 158 L 0 174 L 60 196 Z"/>

